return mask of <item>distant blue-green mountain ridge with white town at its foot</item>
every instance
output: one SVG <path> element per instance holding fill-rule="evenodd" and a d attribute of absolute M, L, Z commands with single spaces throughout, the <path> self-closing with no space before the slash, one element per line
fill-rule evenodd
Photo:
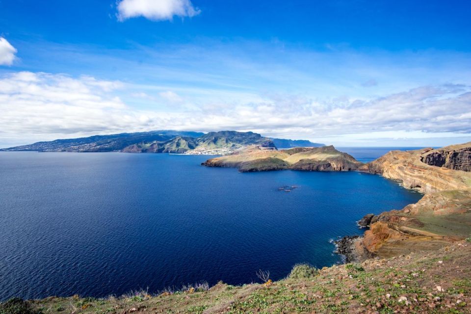
<path fill-rule="evenodd" d="M 269 138 L 254 132 L 219 131 L 205 134 L 158 130 L 57 139 L 0 151 L 227 154 L 248 145 L 274 149 L 324 146 L 307 140 Z"/>

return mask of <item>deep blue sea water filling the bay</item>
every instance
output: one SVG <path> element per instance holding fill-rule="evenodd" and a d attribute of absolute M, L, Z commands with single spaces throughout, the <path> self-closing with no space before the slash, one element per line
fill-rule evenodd
<path fill-rule="evenodd" d="M 258 269 L 276 280 L 340 262 L 329 240 L 421 197 L 377 175 L 238 173 L 207 158 L 0 153 L 0 300 L 243 284 Z"/>

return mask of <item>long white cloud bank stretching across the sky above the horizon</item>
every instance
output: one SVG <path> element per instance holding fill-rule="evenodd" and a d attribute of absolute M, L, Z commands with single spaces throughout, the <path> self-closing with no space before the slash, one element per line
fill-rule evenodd
<path fill-rule="evenodd" d="M 118 92 L 131 98 L 139 95 L 119 81 L 32 72 L 4 75 L 0 143 L 158 129 L 250 130 L 266 136 L 329 139 L 324 140 L 327 143 L 336 137 L 355 141 L 365 134 L 375 134 L 376 139 L 471 135 L 468 85 L 422 86 L 369 100 L 320 102 L 290 94 L 264 94 L 239 102 L 178 98 L 183 104 L 146 109 L 127 105 Z M 169 103 L 178 97 L 170 92 L 155 96 Z"/>

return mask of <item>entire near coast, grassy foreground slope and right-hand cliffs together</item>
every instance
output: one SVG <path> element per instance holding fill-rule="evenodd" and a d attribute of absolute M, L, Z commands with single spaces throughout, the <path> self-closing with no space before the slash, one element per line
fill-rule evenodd
<path fill-rule="evenodd" d="M 306 313 L 471 313 L 471 173 L 463 170 L 467 160 L 456 159 L 470 156 L 466 147 L 471 142 L 440 149 L 441 167 L 423 162 L 440 161 L 436 154 L 424 158 L 433 150 L 393 151 L 362 166 L 361 171 L 401 181 L 424 196 L 400 210 L 366 214 L 358 221 L 368 228 L 363 236 L 334 241 L 345 265 L 319 270 L 297 265 L 287 278 L 262 284 L 220 282 L 106 299 L 15 298 L 0 307 L 23 307 L 28 314 L 215 314 L 294 313 L 303 304 Z M 462 169 L 452 169 L 458 165 Z"/>

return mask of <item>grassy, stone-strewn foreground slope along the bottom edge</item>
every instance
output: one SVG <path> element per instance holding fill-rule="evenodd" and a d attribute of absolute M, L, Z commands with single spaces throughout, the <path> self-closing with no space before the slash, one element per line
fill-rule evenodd
<path fill-rule="evenodd" d="M 42 313 L 471 313 L 471 243 L 434 252 L 315 270 L 293 269 L 267 284 L 219 283 L 145 291 L 104 299 L 50 297 L 31 302 Z"/>

